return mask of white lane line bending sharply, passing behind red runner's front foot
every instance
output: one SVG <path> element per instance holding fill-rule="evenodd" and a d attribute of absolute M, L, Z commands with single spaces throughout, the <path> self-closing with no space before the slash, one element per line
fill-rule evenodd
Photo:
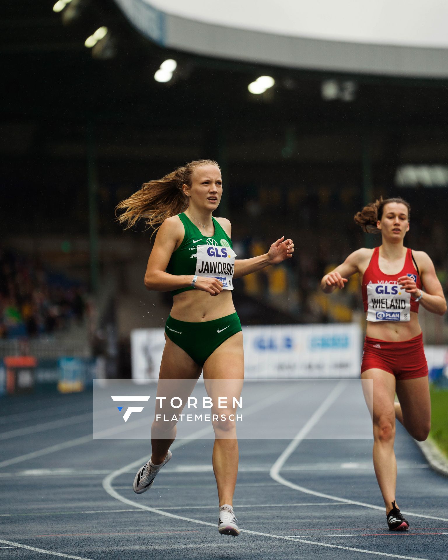
<path fill-rule="evenodd" d="M 339 496 L 332 496 L 332 494 L 325 494 L 323 492 L 315 492 L 314 490 L 310 490 L 309 488 L 305 488 L 304 486 L 299 486 L 298 484 L 294 484 L 293 482 L 290 482 L 290 480 L 283 478 L 282 475 L 280 474 L 280 471 L 284 463 L 286 463 L 286 461 L 290 458 L 292 453 L 297 449 L 297 446 L 304 440 L 304 438 L 310 432 L 312 427 L 314 427 L 315 424 L 319 421 L 319 419 L 325 414 L 326 410 L 328 410 L 330 406 L 333 404 L 335 398 L 337 398 L 338 396 L 337 389 L 339 386 L 340 385 L 338 384 L 333 389 L 332 393 L 330 393 L 328 397 L 324 400 L 324 402 L 320 405 L 320 407 L 316 409 L 315 413 L 312 414 L 309 421 L 306 422 L 304 427 L 302 427 L 302 429 L 297 433 L 296 437 L 290 442 L 290 444 L 286 447 L 283 453 L 279 456 L 277 461 L 272 465 L 269 472 L 270 477 L 276 480 L 276 482 L 283 484 L 283 486 L 287 486 L 288 488 L 292 488 L 293 490 L 297 490 L 299 492 L 304 492 L 305 494 L 311 494 L 311 496 L 326 498 L 327 500 L 335 500 L 343 503 L 349 503 L 354 506 L 368 507 L 372 510 L 384 511 L 384 506 L 375 506 L 371 503 L 358 502 L 356 500 L 348 500 L 347 498 L 340 498 Z M 437 521 L 448 522 L 448 519 L 446 519 L 445 517 L 435 517 L 432 515 L 416 514 L 412 511 L 402 510 L 402 514 L 413 515 L 414 517 L 423 517 L 424 519 L 435 519 Z"/>

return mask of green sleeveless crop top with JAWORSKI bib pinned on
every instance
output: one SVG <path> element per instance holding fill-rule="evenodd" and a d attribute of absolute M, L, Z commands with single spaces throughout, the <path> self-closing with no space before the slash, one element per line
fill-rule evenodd
<path fill-rule="evenodd" d="M 234 274 L 235 253 L 232 240 L 212 217 L 214 234 L 204 236 L 199 228 L 182 212 L 178 214 L 184 225 L 184 239 L 172 253 L 166 272 L 181 276 L 182 274 L 198 274 L 198 276 L 218 278 L 223 283 L 224 290 L 233 290 L 232 276 Z M 176 293 L 194 290 L 192 286 L 179 288 L 171 292 Z"/>

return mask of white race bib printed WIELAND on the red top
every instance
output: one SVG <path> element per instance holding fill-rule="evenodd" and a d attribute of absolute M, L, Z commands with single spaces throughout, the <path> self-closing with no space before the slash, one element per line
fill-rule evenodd
<path fill-rule="evenodd" d="M 410 293 L 398 284 L 367 284 L 367 321 L 409 321 Z"/>

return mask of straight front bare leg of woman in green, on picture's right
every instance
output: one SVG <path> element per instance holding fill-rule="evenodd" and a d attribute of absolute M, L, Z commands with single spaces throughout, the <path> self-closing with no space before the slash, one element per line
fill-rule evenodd
<path fill-rule="evenodd" d="M 206 380 L 242 380 L 244 377 L 244 354 L 242 349 L 242 333 L 228 338 L 209 356 L 204 364 Z M 214 386 L 241 388 L 241 383 L 214 384 Z M 208 389 L 207 389 L 208 390 Z M 231 391 L 230 391 L 231 392 Z M 238 397 L 238 394 L 235 394 Z M 218 412 L 218 410 L 216 411 Z M 231 414 L 234 409 L 219 410 L 219 413 Z M 213 424 L 215 440 L 213 446 L 213 472 L 218 487 L 220 506 L 233 505 L 233 498 L 238 474 L 238 442 L 236 439 L 235 422 L 217 422 Z"/>

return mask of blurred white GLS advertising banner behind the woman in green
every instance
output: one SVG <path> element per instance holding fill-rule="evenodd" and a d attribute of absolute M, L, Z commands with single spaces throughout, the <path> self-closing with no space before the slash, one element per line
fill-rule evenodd
<path fill-rule="evenodd" d="M 344 325 L 245 326 L 245 377 L 338 378 L 360 375 L 361 328 Z M 133 379 L 157 379 L 164 329 L 131 333 Z"/>

